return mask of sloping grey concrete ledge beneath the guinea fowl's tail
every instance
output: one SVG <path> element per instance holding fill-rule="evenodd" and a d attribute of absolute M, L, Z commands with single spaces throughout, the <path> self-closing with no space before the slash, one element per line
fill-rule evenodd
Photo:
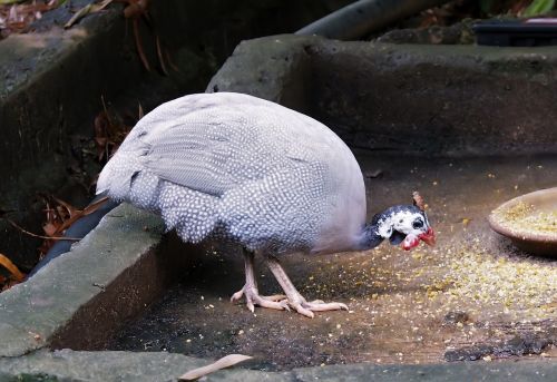
<path fill-rule="evenodd" d="M 163 225 L 121 205 L 72 249 L 0 294 L 0 356 L 95 349 L 168 283 L 153 251 Z"/>

